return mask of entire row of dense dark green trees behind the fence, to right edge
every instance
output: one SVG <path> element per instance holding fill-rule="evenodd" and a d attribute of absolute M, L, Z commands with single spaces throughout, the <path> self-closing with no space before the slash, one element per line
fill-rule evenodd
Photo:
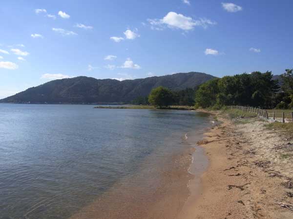
<path fill-rule="evenodd" d="M 292 109 L 293 71 L 286 70 L 279 80 L 273 80 L 271 72 L 215 78 L 199 86 L 195 93 L 195 106 L 219 109 L 223 106 L 241 105 Z"/>

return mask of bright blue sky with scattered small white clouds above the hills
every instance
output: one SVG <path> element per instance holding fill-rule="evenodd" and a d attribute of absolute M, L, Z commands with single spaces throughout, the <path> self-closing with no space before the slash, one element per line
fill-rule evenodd
<path fill-rule="evenodd" d="M 293 68 L 292 0 L 1 0 L 0 98 L 74 76 Z"/>

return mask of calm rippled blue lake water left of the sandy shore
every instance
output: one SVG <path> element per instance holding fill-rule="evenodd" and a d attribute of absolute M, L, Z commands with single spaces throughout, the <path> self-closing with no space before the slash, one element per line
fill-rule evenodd
<path fill-rule="evenodd" d="M 195 111 L 0 104 L 0 219 L 70 218 L 142 164 L 154 177 L 209 125 Z"/>

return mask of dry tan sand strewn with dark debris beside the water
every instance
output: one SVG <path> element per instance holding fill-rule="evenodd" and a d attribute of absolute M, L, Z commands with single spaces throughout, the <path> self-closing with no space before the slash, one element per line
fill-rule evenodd
<path fill-rule="evenodd" d="M 201 194 L 191 190 L 177 218 L 293 219 L 293 139 L 257 119 L 220 120 L 199 142 L 210 161 Z"/>

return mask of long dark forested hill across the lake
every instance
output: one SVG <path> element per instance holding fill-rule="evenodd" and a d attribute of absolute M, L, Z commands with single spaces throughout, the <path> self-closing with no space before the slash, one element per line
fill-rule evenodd
<path fill-rule="evenodd" d="M 2 103 L 129 103 L 147 96 L 151 89 L 164 86 L 171 90 L 194 88 L 214 76 L 206 73 L 176 73 L 144 79 L 118 81 L 79 76 L 54 80 L 0 100 Z"/>

